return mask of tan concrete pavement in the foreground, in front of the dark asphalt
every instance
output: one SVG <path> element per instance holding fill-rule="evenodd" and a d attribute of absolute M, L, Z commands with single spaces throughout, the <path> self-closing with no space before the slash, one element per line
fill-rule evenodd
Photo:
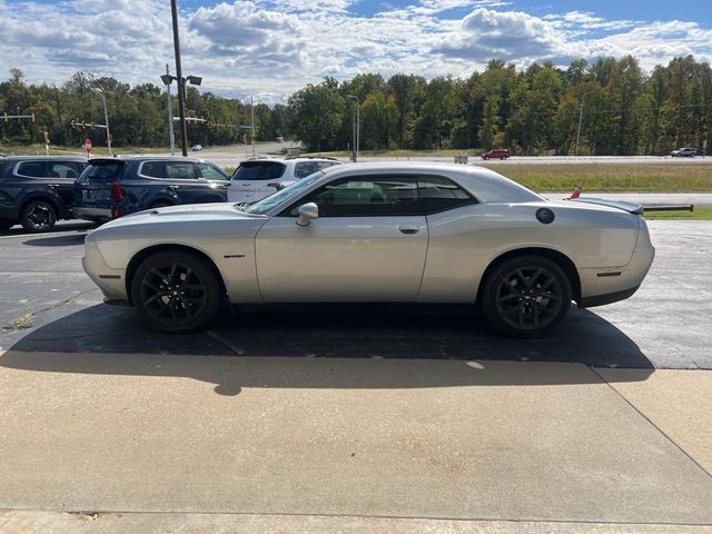
<path fill-rule="evenodd" d="M 8 352 L 0 532 L 709 532 L 711 414 L 701 370 Z"/>

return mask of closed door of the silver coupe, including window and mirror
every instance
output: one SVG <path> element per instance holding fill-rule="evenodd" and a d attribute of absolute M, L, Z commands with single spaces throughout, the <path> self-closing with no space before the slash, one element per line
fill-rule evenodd
<path fill-rule="evenodd" d="M 296 225 L 315 202 L 319 217 Z M 268 220 L 256 237 L 266 301 L 412 301 L 423 278 L 428 231 L 411 176 L 342 178 Z"/>

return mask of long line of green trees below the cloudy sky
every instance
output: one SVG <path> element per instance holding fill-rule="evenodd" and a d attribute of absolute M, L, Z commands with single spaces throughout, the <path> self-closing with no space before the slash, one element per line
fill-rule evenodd
<path fill-rule="evenodd" d="M 103 122 L 101 88 L 115 146 L 168 145 L 165 88 L 82 72 L 61 87 L 28 85 L 20 70 L 10 75 L 0 83 L 0 112 L 33 112 L 36 120 L 0 120 L 2 142 L 42 142 L 47 130 L 53 145 L 78 146 L 90 135 L 101 145 L 99 131 L 71 126 L 73 119 Z M 299 140 L 310 151 L 346 150 L 355 106 L 362 150 L 504 147 L 521 155 L 661 155 L 681 146 L 702 150 L 712 127 L 712 69 L 688 56 L 645 73 L 626 56 L 578 59 L 565 69 L 552 62 L 517 69 L 493 59 L 467 79 L 327 77 L 284 105 L 255 103 L 255 136 Z M 186 108 L 206 119 L 188 125 L 190 144 L 249 142 L 249 103 L 188 87 Z"/>

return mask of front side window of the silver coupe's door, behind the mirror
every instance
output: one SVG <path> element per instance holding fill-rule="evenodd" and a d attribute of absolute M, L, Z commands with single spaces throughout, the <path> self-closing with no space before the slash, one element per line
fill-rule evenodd
<path fill-rule="evenodd" d="M 333 181 L 299 200 L 288 210 L 315 202 L 319 217 L 422 215 L 417 181 L 411 176 L 359 176 Z"/>

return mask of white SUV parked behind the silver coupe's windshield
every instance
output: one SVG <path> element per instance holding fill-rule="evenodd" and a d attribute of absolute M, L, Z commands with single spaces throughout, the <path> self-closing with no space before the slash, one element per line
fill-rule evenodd
<path fill-rule="evenodd" d="M 340 162 L 334 158 L 251 158 L 243 161 L 227 188 L 230 202 L 253 204 L 273 192 Z"/>

